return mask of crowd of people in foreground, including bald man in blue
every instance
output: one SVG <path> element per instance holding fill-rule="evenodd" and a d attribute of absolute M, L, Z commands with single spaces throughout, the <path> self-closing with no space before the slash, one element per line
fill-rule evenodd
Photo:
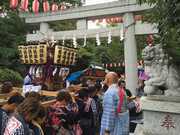
<path fill-rule="evenodd" d="M 135 97 L 114 72 L 103 83 L 88 80 L 78 90 L 59 90 L 45 107 L 38 92 L 14 92 L 0 109 L 2 135 L 128 135 L 142 116 L 140 83 Z"/>

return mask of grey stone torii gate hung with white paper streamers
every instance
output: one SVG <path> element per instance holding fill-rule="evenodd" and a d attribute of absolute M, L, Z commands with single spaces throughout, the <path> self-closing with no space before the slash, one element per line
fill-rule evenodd
<path fill-rule="evenodd" d="M 135 22 L 134 14 L 140 14 L 151 8 L 152 6 L 147 4 L 138 5 L 136 0 L 120 0 L 52 13 L 24 13 L 20 14 L 20 17 L 25 18 L 25 22 L 28 24 L 40 24 L 40 32 L 27 34 L 26 41 L 41 41 L 44 39 L 42 33 L 47 34 L 47 36 L 48 34 L 53 36 L 55 40 L 63 40 L 63 37 L 72 39 L 73 35 L 75 35 L 76 38 L 84 38 L 84 35 L 87 35 L 87 38 L 95 38 L 96 33 L 99 33 L 100 37 L 107 37 L 109 31 L 111 31 L 112 36 L 119 36 L 119 27 L 92 30 L 88 29 L 87 21 L 104 16 L 123 16 L 123 27 L 126 29 L 124 38 L 126 87 L 133 94 L 136 94 L 135 89 L 138 84 L 138 76 L 135 35 L 154 34 L 157 33 L 158 30 L 154 24 Z M 77 20 L 76 30 L 53 32 L 52 29 L 49 28 L 48 22 L 70 19 Z"/>

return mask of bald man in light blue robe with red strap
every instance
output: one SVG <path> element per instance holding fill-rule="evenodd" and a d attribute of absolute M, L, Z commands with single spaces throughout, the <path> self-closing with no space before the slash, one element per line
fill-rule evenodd
<path fill-rule="evenodd" d="M 109 72 L 104 83 L 108 89 L 103 98 L 103 115 L 100 135 L 128 135 L 129 112 L 126 94 L 118 86 L 118 75 Z"/>

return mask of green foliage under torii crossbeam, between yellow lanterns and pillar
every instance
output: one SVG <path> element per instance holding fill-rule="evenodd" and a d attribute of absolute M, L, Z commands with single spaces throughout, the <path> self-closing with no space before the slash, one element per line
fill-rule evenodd
<path fill-rule="evenodd" d="M 97 46 L 95 39 L 88 39 L 87 46 L 79 49 L 79 56 L 89 56 L 89 62 L 97 65 L 123 61 L 124 47 L 118 37 L 113 37 L 111 44 L 107 44 L 107 38 L 101 38 L 100 40 L 101 45 Z M 79 44 L 82 45 L 82 43 Z"/>

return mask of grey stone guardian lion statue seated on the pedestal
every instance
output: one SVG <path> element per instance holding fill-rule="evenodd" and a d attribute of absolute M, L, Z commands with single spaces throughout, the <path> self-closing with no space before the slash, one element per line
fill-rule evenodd
<path fill-rule="evenodd" d="M 145 93 L 180 96 L 180 70 L 170 64 L 171 59 L 165 54 L 162 46 L 147 46 L 143 49 L 142 57 L 145 73 L 149 76 L 145 81 Z"/>

